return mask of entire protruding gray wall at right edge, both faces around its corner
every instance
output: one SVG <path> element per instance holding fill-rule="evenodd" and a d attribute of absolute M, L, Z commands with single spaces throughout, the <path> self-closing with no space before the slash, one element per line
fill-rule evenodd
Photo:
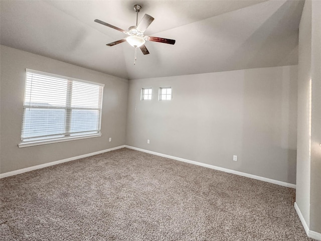
<path fill-rule="evenodd" d="M 305 1 L 299 26 L 296 170 L 296 203 L 309 229 L 318 233 L 321 233 L 320 13 L 320 1 Z M 310 80 L 312 83 L 311 116 L 309 116 Z M 311 137 L 309 128 L 311 128 Z"/>

